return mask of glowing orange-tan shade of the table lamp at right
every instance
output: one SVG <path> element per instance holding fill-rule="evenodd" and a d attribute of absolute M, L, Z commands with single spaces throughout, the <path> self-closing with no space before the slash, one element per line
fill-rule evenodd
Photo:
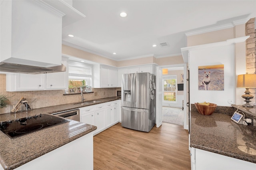
<path fill-rule="evenodd" d="M 238 75 L 236 87 L 256 88 L 256 74 Z"/>

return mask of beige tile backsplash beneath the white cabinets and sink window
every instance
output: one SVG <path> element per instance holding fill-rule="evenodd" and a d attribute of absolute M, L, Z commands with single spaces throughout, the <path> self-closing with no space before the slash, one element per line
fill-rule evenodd
<path fill-rule="evenodd" d="M 121 90 L 121 88 L 92 88 L 94 93 L 84 94 L 85 100 L 101 99 L 106 97 L 116 96 L 116 91 Z M 7 95 L 10 101 L 10 105 L 7 107 L 0 108 L 0 114 L 10 113 L 14 105 L 24 97 L 28 100 L 28 104 L 31 104 L 33 109 L 40 107 L 48 107 L 55 105 L 62 105 L 67 103 L 74 103 L 81 101 L 81 95 L 63 95 L 64 90 L 46 90 L 46 91 L 19 91 L 19 92 L 9 92 L 6 91 L 6 75 L 0 74 L 0 94 Z M 13 97 L 11 97 L 13 96 Z"/>

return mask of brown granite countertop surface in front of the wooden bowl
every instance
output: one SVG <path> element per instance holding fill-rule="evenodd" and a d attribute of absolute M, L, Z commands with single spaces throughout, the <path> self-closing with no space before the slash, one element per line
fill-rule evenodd
<path fill-rule="evenodd" d="M 235 123 L 231 117 L 192 111 L 190 146 L 256 163 L 256 127 Z"/>

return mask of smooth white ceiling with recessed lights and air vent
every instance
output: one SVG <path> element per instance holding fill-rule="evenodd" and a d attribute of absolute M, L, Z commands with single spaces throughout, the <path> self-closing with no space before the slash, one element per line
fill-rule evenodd
<path fill-rule="evenodd" d="M 73 0 L 73 7 L 86 17 L 62 29 L 62 43 L 116 61 L 180 55 L 185 33 L 256 17 L 256 0 Z"/>

